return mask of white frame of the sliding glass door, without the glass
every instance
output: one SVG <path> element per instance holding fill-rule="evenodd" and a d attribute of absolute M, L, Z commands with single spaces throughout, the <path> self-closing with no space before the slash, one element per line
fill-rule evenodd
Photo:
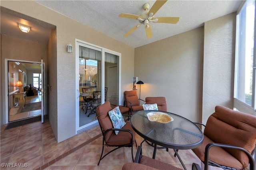
<path fill-rule="evenodd" d="M 118 104 L 121 105 L 121 53 L 118 53 L 116 51 L 112 51 L 91 43 L 87 43 L 85 41 L 76 39 L 76 134 L 79 130 L 84 129 L 90 125 L 93 125 L 94 123 L 98 123 L 98 120 L 93 121 L 91 123 L 88 123 L 86 125 L 83 125 L 81 127 L 79 127 L 79 96 L 80 96 L 80 91 L 79 91 L 79 46 L 82 45 L 84 47 L 88 47 L 91 49 L 96 49 L 96 50 L 101 50 L 101 96 L 105 95 L 105 53 L 110 53 L 113 55 L 117 55 L 118 56 Z M 101 100 L 101 104 L 104 104 L 104 100 Z"/>

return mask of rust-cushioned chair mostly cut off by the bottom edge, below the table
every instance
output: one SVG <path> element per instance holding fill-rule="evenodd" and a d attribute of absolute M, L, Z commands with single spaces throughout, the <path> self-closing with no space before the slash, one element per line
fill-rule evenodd
<path fill-rule="evenodd" d="M 134 162 L 126 163 L 122 167 L 122 170 L 182 170 L 171 164 L 166 164 L 159 160 L 149 158 L 142 155 L 142 147 L 139 145 Z M 192 164 L 192 170 L 201 170 L 198 164 Z"/>

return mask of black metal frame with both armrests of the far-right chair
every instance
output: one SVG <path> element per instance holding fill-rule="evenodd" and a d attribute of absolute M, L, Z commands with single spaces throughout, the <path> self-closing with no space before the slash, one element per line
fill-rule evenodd
<path fill-rule="evenodd" d="M 198 124 L 198 125 L 202 125 L 205 127 L 205 125 L 203 123 L 200 123 L 200 122 L 194 122 L 195 124 Z M 204 161 L 202 161 L 204 163 L 204 170 L 208 170 L 208 166 L 216 166 L 218 168 L 222 168 L 224 170 L 228 169 L 228 170 L 236 170 L 235 168 L 232 168 L 232 167 L 227 167 L 227 166 L 223 166 L 223 165 L 219 165 L 211 160 L 209 160 L 209 152 L 210 152 L 210 148 L 211 147 L 222 147 L 222 148 L 232 148 L 232 149 L 239 149 L 239 150 L 243 150 L 246 155 L 248 156 L 249 158 L 249 165 L 250 165 L 250 170 L 255 170 L 256 168 L 256 162 L 253 158 L 253 154 L 256 153 L 256 146 L 254 148 L 254 150 L 252 151 L 252 153 L 248 152 L 246 149 L 244 148 L 241 148 L 241 147 L 236 147 L 234 145 L 227 145 L 227 144 L 223 144 L 223 143 L 209 143 L 208 145 L 206 145 L 205 147 L 205 154 L 204 154 Z"/>

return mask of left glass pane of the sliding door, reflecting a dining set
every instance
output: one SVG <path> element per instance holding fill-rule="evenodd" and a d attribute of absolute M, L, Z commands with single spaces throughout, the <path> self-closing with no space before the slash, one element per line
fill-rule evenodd
<path fill-rule="evenodd" d="M 79 45 L 79 127 L 96 121 L 101 104 L 101 50 Z"/>

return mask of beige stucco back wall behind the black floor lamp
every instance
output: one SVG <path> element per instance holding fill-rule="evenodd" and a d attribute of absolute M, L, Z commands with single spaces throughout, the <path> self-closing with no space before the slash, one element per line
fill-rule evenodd
<path fill-rule="evenodd" d="M 200 121 L 203 31 L 200 27 L 135 49 L 134 76 L 144 82 L 142 99 L 164 96 L 169 112 Z"/>

